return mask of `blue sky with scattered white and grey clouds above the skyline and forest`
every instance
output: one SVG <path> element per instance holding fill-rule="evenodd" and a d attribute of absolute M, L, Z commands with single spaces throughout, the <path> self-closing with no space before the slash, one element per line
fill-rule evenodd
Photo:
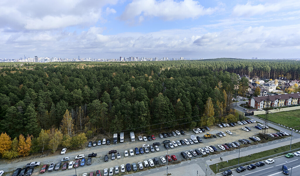
<path fill-rule="evenodd" d="M 0 58 L 299 58 L 299 0 L 1 0 Z"/>

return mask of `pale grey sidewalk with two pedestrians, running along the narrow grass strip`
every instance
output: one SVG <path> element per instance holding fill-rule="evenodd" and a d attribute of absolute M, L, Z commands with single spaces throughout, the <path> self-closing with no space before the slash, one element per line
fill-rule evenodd
<path fill-rule="evenodd" d="M 292 144 L 296 143 L 296 142 L 300 142 L 300 138 L 292 139 Z M 281 147 L 281 146 L 284 146 L 284 145 L 289 145 L 289 144 L 290 144 L 290 140 L 287 140 L 285 142 L 280 142 L 279 144 L 273 144 L 273 145 L 268 145 L 268 146 L 264 146 L 264 147 L 259 147 L 259 148 L 247 150 L 247 151 L 242 151 L 242 152 L 240 152 L 240 157 L 248 156 L 250 154 L 259 153 L 261 151 L 266 151 L 266 150 L 270 150 L 270 149 L 273 149 L 273 148 L 278 148 L 278 147 Z M 259 145 L 261 145 L 261 144 L 259 144 Z M 251 147 L 251 146 L 249 146 L 249 147 Z M 235 154 L 226 155 L 226 156 L 222 157 L 223 161 L 238 158 L 238 149 L 236 149 L 234 151 L 236 151 Z M 230 151 L 230 152 L 233 152 L 233 151 Z M 207 163 L 207 165 L 220 163 L 220 157 L 212 159 L 212 160 L 207 160 L 206 163 Z"/>

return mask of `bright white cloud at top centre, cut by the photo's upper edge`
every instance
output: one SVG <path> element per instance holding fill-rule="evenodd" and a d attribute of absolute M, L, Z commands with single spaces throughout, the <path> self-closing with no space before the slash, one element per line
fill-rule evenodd
<path fill-rule="evenodd" d="M 194 0 L 134 0 L 129 3 L 123 14 L 122 20 L 134 20 L 138 17 L 139 22 L 143 17 L 161 17 L 164 20 L 176 20 L 186 18 L 198 18 L 203 15 L 214 13 L 217 8 L 204 8 L 198 1 Z"/>

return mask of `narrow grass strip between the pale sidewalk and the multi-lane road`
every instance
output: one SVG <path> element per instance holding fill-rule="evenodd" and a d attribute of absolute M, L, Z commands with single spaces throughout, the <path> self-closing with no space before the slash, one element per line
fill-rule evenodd
<path fill-rule="evenodd" d="M 292 144 L 292 149 L 295 149 L 295 148 L 300 148 L 300 142 Z M 285 152 L 285 151 L 288 151 L 288 150 L 289 150 L 289 145 L 285 145 L 285 146 L 282 146 L 282 147 L 279 147 L 279 148 L 274 148 L 274 149 L 271 149 L 271 150 L 262 151 L 262 152 L 259 152 L 259 153 L 252 154 L 251 157 L 249 157 L 249 156 L 240 157 L 240 163 L 245 163 L 247 161 L 256 160 L 256 159 L 259 159 L 259 158 L 262 158 L 262 157 L 267 157 L 267 156 L 277 154 L 277 153 L 281 153 L 281 152 Z M 234 166 L 234 165 L 238 164 L 238 158 L 235 158 L 233 160 L 228 160 L 228 163 L 227 163 L 227 161 L 223 161 L 223 162 L 220 162 L 220 163 L 217 163 L 217 164 L 218 164 L 218 169 L 223 169 L 225 167 Z M 212 164 L 209 167 L 214 173 L 217 173 L 216 164 Z M 231 170 L 234 170 L 234 169 L 231 169 Z"/>

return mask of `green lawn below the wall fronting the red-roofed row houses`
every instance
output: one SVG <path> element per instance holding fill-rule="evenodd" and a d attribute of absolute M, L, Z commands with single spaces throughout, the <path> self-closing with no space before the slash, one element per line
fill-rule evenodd
<path fill-rule="evenodd" d="M 264 114 L 257 115 L 264 118 Z M 300 125 L 300 110 L 283 111 L 279 113 L 269 114 L 269 121 L 279 123 L 287 127 L 296 127 Z M 300 130 L 300 127 L 294 129 Z"/>

